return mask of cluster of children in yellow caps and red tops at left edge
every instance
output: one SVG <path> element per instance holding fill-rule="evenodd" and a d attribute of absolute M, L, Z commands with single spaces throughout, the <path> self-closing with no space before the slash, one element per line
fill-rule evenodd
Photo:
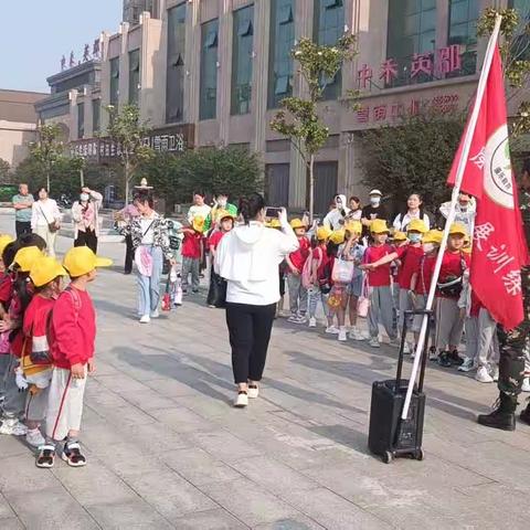
<path fill-rule="evenodd" d="M 0 235 L 0 434 L 25 436 L 36 466 L 60 452 L 86 464 L 80 445 L 86 378 L 95 369 L 95 310 L 87 286 L 110 265 L 87 246 L 61 265 L 35 234 Z M 63 288 L 63 277 L 70 285 Z"/>

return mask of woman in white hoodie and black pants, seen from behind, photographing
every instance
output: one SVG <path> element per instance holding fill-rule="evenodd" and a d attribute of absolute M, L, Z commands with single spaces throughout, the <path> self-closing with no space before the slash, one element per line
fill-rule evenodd
<path fill-rule="evenodd" d="M 257 398 L 268 341 L 279 300 L 278 265 L 298 248 L 298 240 L 279 213 L 282 231 L 265 222 L 265 201 L 254 193 L 240 202 L 244 225 L 235 227 L 219 244 L 215 272 L 227 280 L 226 324 L 232 346 L 232 369 L 237 384 L 235 406 Z"/>

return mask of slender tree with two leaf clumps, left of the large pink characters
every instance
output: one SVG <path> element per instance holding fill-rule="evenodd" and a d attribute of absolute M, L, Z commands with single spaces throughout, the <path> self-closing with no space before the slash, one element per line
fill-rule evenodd
<path fill-rule="evenodd" d="M 329 128 L 319 114 L 318 103 L 329 81 L 335 80 L 342 65 L 351 61 L 354 35 L 344 35 L 335 46 L 318 45 L 310 39 L 300 39 L 292 55 L 298 62 L 299 73 L 306 84 L 304 97 L 287 97 L 282 102 L 271 123 L 271 128 L 288 137 L 299 151 L 309 170 L 309 214 L 315 210 L 315 157 L 329 137 Z M 348 100 L 356 97 L 348 94 Z"/>

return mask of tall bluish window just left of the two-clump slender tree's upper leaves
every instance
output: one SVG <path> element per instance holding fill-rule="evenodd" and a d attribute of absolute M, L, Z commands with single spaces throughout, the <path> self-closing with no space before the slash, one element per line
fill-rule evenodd
<path fill-rule="evenodd" d="M 271 0 L 271 50 L 268 54 L 268 108 L 278 108 L 293 94 L 295 0 Z"/>

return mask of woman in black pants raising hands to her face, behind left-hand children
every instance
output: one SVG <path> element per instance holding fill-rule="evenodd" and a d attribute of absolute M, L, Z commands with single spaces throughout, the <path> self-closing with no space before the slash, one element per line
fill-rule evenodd
<path fill-rule="evenodd" d="M 85 187 L 81 190 L 80 200 L 72 205 L 74 246 L 87 246 L 94 254 L 97 253 L 102 204 L 103 195 Z"/>

